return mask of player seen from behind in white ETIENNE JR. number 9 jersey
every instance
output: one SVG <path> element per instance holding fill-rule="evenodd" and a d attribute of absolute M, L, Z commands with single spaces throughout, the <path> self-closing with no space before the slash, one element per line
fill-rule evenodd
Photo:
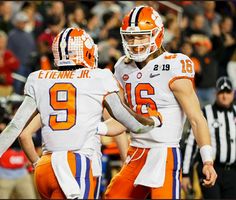
<path fill-rule="evenodd" d="M 55 37 L 52 50 L 58 70 L 29 75 L 25 99 L 0 135 L 0 156 L 40 113 L 43 155 L 39 161 L 31 160 L 37 163 L 35 179 L 40 196 L 94 198 L 91 160 L 100 147 L 96 129 L 104 107 L 137 134 L 161 126 L 162 121 L 158 112 L 143 117 L 122 103 L 111 71 L 97 68 L 97 46 L 84 30 L 64 29 Z M 29 156 L 32 149 L 28 142 L 21 140 Z"/>

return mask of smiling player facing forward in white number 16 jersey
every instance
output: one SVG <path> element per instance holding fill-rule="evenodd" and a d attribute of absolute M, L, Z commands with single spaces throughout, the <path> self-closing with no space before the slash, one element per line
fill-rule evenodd
<path fill-rule="evenodd" d="M 209 130 L 192 86 L 193 62 L 184 54 L 169 53 L 162 47 L 164 26 L 152 7 L 132 9 L 124 17 L 120 33 L 125 56 L 115 65 L 115 77 L 124 89 L 125 99 L 136 113 L 144 116 L 148 115 L 147 105 L 158 109 L 163 125 L 145 134 L 131 131 L 126 164 L 111 180 L 105 198 L 143 199 L 148 194 L 154 199 L 180 198 L 179 141 L 185 115 L 201 148 L 206 176 L 203 184 L 214 185 L 217 175 Z M 106 134 L 125 130 L 113 120 L 106 125 Z"/>

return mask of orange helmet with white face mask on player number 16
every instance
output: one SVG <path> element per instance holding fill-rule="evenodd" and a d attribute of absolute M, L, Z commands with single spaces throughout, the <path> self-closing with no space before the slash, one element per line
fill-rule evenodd
<path fill-rule="evenodd" d="M 124 17 L 120 33 L 126 56 L 136 62 L 142 62 L 161 47 L 164 38 L 164 26 L 157 11 L 149 6 L 139 6 Z M 130 44 L 130 38 L 144 35 L 149 37 L 148 42 Z M 146 47 L 145 52 L 134 53 L 132 51 L 132 48 L 144 46 Z"/>

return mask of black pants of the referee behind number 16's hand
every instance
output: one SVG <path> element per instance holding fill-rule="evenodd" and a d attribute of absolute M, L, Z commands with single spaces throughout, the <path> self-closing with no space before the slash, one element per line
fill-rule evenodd
<path fill-rule="evenodd" d="M 204 199 L 236 199 L 236 167 L 214 165 L 218 175 L 216 183 L 211 188 L 202 185 L 204 176 L 202 165 L 198 166 L 198 174 L 201 182 L 201 190 Z"/>

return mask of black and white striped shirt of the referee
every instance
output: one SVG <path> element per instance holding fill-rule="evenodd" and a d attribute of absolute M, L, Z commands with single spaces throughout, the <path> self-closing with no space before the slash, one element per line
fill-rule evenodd
<path fill-rule="evenodd" d="M 213 157 L 215 163 L 236 164 L 236 105 L 229 109 L 219 107 L 216 103 L 203 108 L 211 134 Z M 183 159 L 183 175 L 188 175 L 199 153 L 192 130 L 187 139 Z"/>

